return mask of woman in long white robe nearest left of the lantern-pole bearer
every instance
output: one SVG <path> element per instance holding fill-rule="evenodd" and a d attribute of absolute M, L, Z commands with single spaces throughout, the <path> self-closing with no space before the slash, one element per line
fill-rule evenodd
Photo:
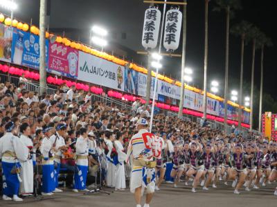
<path fill-rule="evenodd" d="M 123 148 L 122 133 L 116 132 L 116 141 L 114 141 L 114 146 L 116 147 L 117 156 L 114 158 L 116 164 L 115 182 L 116 190 L 125 190 L 125 168 L 124 161 L 126 159 L 126 154 Z"/>

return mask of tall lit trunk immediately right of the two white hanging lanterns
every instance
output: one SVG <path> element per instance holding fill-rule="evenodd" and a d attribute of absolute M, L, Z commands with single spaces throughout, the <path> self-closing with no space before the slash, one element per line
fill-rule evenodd
<path fill-rule="evenodd" d="M 186 0 L 184 0 L 186 3 Z M 182 59 L 181 59 L 181 97 L 179 103 L 178 118 L 183 117 L 183 105 L 184 105 L 184 70 L 186 66 L 186 5 L 184 5 L 183 12 L 183 48 L 182 48 Z"/>

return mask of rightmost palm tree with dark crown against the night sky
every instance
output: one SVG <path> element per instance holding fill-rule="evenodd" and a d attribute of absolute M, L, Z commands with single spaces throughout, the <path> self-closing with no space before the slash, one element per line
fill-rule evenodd
<path fill-rule="evenodd" d="M 260 37 L 257 40 L 257 48 L 260 49 L 260 106 L 259 106 L 259 132 L 262 128 L 262 89 L 263 89 L 263 62 L 264 62 L 264 49 L 266 47 L 273 46 L 271 39 L 261 32 Z"/>

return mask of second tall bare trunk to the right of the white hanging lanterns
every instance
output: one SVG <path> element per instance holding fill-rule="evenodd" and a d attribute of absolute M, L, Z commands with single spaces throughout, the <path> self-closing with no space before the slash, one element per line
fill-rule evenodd
<path fill-rule="evenodd" d="M 208 67 L 208 0 L 205 0 L 205 54 L 204 54 L 204 97 L 203 118 L 207 116 L 207 67 Z"/>

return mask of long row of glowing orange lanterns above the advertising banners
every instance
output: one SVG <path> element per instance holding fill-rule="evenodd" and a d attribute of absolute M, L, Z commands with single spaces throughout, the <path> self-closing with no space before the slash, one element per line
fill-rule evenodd
<path fill-rule="evenodd" d="M 24 32 L 27 32 L 29 30 L 29 26 L 27 23 L 21 23 L 21 22 L 17 21 L 16 19 L 11 20 L 10 17 L 5 18 L 5 16 L 3 14 L 0 14 L 0 23 L 5 23 L 6 26 L 12 26 L 19 30 L 23 30 Z M 35 35 L 39 35 L 39 28 L 37 28 L 36 26 L 30 26 L 30 32 Z M 48 38 L 50 35 L 51 34 L 49 34 L 49 32 L 46 32 L 45 37 Z M 117 57 L 114 57 L 113 55 L 109 55 L 106 52 L 100 52 L 93 48 L 89 48 L 88 46 L 85 46 L 82 43 L 76 43 L 75 41 L 71 41 L 71 40 L 67 39 L 66 37 L 57 36 L 56 42 L 63 43 L 65 46 L 70 46 L 71 48 L 81 50 L 82 52 L 87 52 L 91 55 L 95 55 L 96 57 L 106 59 L 107 61 L 112 61 L 120 66 L 125 66 L 128 63 L 127 61 L 125 61 L 123 59 L 119 59 Z M 135 63 L 130 63 L 129 68 L 136 70 L 137 72 L 142 72 L 144 74 L 148 73 L 148 69 L 143 68 L 141 66 L 137 66 Z M 156 77 L 156 72 L 152 71 L 152 77 Z M 157 78 L 160 80 L 166 81 L 168 83 L 171 83 L 171 84 L 175 83 L 176 86 L 181 87 L 180 81 L 175 81 L 173 79 L 170 79 L 169 77 L 166 77 L 166 76 L 160 75 L 160 74 L 158 74 Z M 202 90 L 195 88 L 193 86 L 188 86 L 187 84 L 185 84 L 185 88 L 188 90 L 192 90 L 194 92 L 203 94 Z M 89 90 L 89 89 L 87 89 L 87 90 Z M 207 96 L 211 97 L 212 99 L 215 99 L 217 101 L 224 101 L 224 99 L 222 99 L 222 97 L 218 97 L 217 95 L 213 95 L 211 93 L 207 93 Z M 228 104 L 231 106 L 234 106 L 236 108 L 239 107 L 239 105 L 237 103 L 233 103 L 233 101 L 228 101 Z M 247 112 L 250 112 L 249 108 L 244 108 L 244 110 L 246 110 Z"/>

